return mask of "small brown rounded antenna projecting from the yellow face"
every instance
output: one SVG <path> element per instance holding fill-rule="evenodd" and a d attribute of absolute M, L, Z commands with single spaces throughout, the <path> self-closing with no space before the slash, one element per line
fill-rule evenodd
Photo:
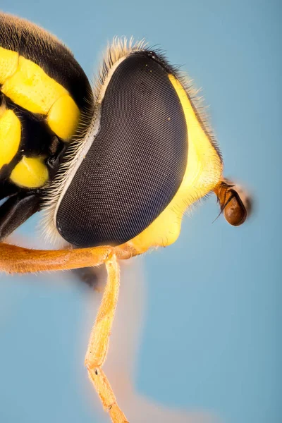
<path fill-rule="evenodd" d="M 240 185 L 224 180 L 216 190 L 221 205 L 221 212 L 232 226 L 245 222 L 252 210 L 250 195 Z"/>

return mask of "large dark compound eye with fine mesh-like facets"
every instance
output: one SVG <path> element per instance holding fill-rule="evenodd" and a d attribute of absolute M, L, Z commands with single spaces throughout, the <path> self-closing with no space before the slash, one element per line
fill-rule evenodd
<path fill-rule="evenodd" d="M 188 159 L 188 128 L 166 68 L 132 54 L 106 87 L 100 128 L 63 195 L 56 226 L 73 245 L 120 245 L 164 211 Z"/>

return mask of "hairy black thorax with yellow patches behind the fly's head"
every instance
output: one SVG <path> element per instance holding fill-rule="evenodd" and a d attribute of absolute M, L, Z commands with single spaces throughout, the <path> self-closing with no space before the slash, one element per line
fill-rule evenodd
<path fill-rule="evenodd" d="M 41 28 L 0 14 L 0 181 L 31 190 L 51 177 L 49 159 L 69 142 L 91 103 L 73 54 Z"/>

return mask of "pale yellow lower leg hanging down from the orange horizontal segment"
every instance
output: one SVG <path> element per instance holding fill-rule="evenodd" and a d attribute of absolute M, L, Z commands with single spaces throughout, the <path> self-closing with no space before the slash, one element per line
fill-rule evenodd
<path fill-rule="evenodd" d="M 102 371 L 102 365 L 106 360 L 108 350 L 109 336 L 111 335 L 111 326 L 114 320 L 116 303 L 118 301 L 119 290 L 119 266 L 116 255 L 111 255 L 106 260 L 106 269 L 108 280 L 102 303 L 99 307 L 96 321 L 94 323 L 90 342 L 88 345 L 85 365 L 88 369 L 90 380 L 94 385 L 104 409 L 109 411 L 113 423 L 128 423 L 125 415 L 116 403 L 116 397 L 111 389 L 106 375 Z"/>

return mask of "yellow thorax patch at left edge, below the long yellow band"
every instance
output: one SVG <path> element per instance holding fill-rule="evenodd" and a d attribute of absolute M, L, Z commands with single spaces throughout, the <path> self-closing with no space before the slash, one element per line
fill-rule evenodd
<path fill-rule="evenodd" d="M 10 163 L 20 145 L 20 120 L 8 109 L 0 110 L 0 169 Z"/>

